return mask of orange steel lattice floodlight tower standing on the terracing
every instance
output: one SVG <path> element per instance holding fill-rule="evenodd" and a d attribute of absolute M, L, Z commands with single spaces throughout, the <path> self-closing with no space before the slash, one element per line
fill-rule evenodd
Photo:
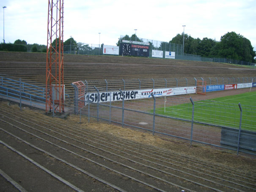
<path fill-rule="evenodd" d="M 45 110 L 64 112 L 63 0 L 48 1 Z"/>

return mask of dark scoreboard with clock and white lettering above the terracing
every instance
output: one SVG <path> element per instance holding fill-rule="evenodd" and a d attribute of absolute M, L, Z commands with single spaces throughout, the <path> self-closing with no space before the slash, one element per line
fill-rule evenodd
<path fill-rule="evenodd" d="M 149 57 L 149 45 L 122 42 L 119 46 L 119 55 Z"/>

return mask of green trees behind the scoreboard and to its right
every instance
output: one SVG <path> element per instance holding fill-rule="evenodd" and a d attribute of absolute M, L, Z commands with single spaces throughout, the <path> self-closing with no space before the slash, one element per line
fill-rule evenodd
<path fill-rule="evenodd" d="M 136 39 L 136 41 L 142 42 L 142 40 L 135 34 L 131 37 L 126 35 L 118 39 L 118 42 L 116 43 L 117 46 L 119 46 L 123 39 L 131 41 L 135 41 Z M 169 47 L 170 43 L 183 44 L 183 33 L 177 34 L 169 42 L 161 41 L 159 46 Z M 152 49 L 158 49 L 158 47 L 154 47 L 150 41 L 149 44 L 152 46 Z M 201 57 L 205 58 L 228 58 L 256 63 L 256 60 L 254 59 L 256 57 L 256 52 L 253 51 L 250 40 L 235 32 L 226 33 L 221 36 L 220 41 L 207 37 L 203 39 L 193 38 L 184 34 L 184 53 L 201 55 Z"/>

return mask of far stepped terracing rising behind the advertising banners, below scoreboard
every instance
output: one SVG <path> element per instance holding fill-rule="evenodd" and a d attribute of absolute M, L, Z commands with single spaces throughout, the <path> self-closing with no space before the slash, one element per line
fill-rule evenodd
<path fill-rule="evenodd" d="M 0 52 L 0 74 L 45 85 L 46 53 Z M 54 70 L 54 69 L 53 69 Z M 255 69 L 225 63 L 97 55 L 64 55 L 64 82 L 80 80 L 256 77 Z M 233 78 L 233 79 L 234 79 Z M 174 82 L 174 81 L 173 81 Z"/>

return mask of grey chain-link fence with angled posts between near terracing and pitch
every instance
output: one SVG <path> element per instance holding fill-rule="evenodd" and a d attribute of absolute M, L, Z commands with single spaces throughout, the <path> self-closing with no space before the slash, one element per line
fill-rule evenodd
<path fill-rule="evenodd" d="M 125 100 L 123 90 L 109 90 L 121 101 L 100 102 L 103 89 L 90 87 L 77 115 L 161 134 L 167 137 L 209 144 L 234 151 L 256 154 L 256 106 L 198 100 L 178 96 Z M 98 93 L 98 94 L 97 94 Z M 242 99 L 241 99 L 242 100 Z"/>

